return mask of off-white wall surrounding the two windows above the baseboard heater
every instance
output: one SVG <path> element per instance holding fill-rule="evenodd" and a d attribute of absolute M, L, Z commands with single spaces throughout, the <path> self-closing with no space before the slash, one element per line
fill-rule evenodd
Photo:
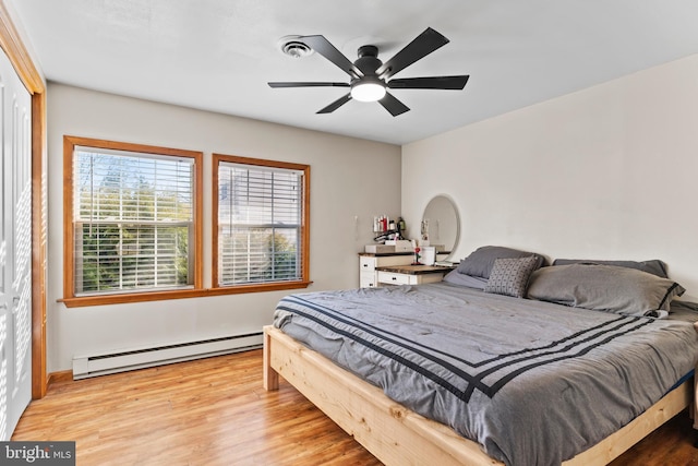
<path fill-rule="evenodd" d="M 204 270 L 210 270 L 210 154 L 311 166 L 311 279 L 308 289 L 359 284 L 357 253 L 373 216 L 400 207 L 400 147 L 156 104 L 49 83 L 48 372 L 73 356 L 261 331 L 285 291 L 67 309 L 63 287 L 64 134 L 203 151 Z M 318 118 L 323 118 L 322 116 Z M 210 274 L 205 272 L 206 286 Z"/>

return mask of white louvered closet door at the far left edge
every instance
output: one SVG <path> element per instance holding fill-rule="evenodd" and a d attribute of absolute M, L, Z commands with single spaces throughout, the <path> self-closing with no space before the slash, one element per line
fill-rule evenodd
<path fill-rule="evenodd" d="M 0 440 L 32 399 L 32 97 L 0 51 Z"/>

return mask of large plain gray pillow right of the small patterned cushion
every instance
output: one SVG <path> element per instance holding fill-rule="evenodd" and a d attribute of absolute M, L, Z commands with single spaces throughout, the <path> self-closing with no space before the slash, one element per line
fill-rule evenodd
<path fill-rule="evenodd" d="M 685 289 L 669 278 L 615 265 L 570 264 L 540 268 L 531 274 L 528 297 L 575 308 L 628 315 L 670 310 Z"/>

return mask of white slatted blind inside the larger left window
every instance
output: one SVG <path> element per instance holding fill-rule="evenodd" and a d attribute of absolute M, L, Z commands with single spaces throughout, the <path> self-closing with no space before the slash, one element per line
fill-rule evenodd
<path fill-rule="evenodd" d="M 76 147 L 75 294 L 189 287 L 193 160 Z"/>

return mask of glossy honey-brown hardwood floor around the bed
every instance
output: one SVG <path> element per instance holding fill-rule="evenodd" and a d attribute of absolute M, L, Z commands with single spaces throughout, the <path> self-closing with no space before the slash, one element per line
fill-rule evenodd
<path fill-rule="evenodd" d="M 381 465 L 281 380 L 262 389 L 262 350 L 51 384 L 12 440 L 76 442 L 92 465 Z M 685 413 L 613 466 L 698 466 Z"/>

